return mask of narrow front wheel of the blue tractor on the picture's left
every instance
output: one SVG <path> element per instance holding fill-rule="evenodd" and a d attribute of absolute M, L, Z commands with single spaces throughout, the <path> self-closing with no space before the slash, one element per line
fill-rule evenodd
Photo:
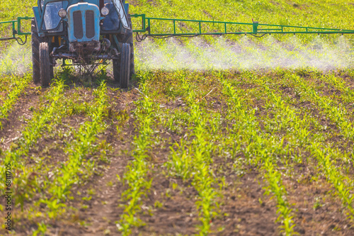
<path fill-rule="evenodd" d="M 50 64 L 49 46 L 47 42 L 40 43 L 40 85 L 42 87 L 49 86 L 50 79 L 52 79 L 53 67 Z"/>

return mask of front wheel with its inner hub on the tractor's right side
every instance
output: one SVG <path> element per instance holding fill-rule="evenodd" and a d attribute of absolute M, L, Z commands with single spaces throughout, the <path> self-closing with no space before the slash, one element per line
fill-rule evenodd
<path fill-rule="evenodd" d="M 119 79 L 120 87 L 127 89 L 130 81 L 130 45 L 128 43 L 122 44 L 120 60 L 113 60 L 113 74 L 115 81 Z"/>

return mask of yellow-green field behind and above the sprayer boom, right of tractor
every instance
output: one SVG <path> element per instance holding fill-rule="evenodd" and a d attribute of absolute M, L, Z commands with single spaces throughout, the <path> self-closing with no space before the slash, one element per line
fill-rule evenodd
<path fill-rule="evenodd" d="M 157 18 L 185 18 L 205 21 L 234 21 L 251 23 L 252 19 L 260 23 L 282 24 L 290 26 L 312 26 L 322 28 L 346 28 L 352 29 L 353 16 L 343 12 L 353 11 L 354 6 L 348 1 L 146 1 L 140 0 L 132 4 L 131 12 L 145 13 L 149 17 Z M 311 17 L 309 17 L 311 16 Z M 135 28 L 139 28 L 140 22 L 133 22 Z M 205 24 L 202 26 L 211 32 L 222 30 L 222 24 Z M 230 27 L 231 30 L 232 27 Z M 197 23 L 183 23 L 178 25 L 178 32 L 188 29 L 198 29 Z M 233 30 L 243 32 L 251 31 L 251 26 L 238 26 Z M 173 24 L 152 21 L 152 33 L 171 33 Z M 289 36 L 276 35 L 275 38 L 284 40 Z M 310 42 L 316 35 L 299 35 L 304 42 Z M 336 36 L 324 35 L 324 38 L 333 40 Z M 351 38 L 351 36 L 349 36 Z M 239 35 L 229 35 L 227 38 L 238 40 Z M 216 39 L 206 36 L 209 42 Z M 188 40 L 185 40 L 187 42 Z M 262 41 L 255 39 L 255 41 Z M 163 43 L 161 41 L 156 43 Z"/>

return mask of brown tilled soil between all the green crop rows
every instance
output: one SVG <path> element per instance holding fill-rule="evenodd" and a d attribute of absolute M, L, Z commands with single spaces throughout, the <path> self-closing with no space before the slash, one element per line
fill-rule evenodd
<path fill-rule="evenodd" d="M 189 77 L 207 78 L 206 82 L 194 82 L 196 88 L 200 89 L 198 98 L 205 111 L 209 114 L 219 113 L 222 117 L 226 116 L 229 105 L 222 95 L 219 78 L 207 72 L 189 73 Z M 156 95 L 153 100 L 161 109 L 159 116 L 169 120 L 176 111 L 189 112 L 183 99 L 184 95 L 179 91 L 173 91 L 178 89 L 178 84 L 174 84 L 171 74 L 156 72 L 151 77 L 150 86 L 156 86 L 156 91 L 152 93 Z M 230 75 L 229 79 L 241 81 L 240 77 L 242 74 L 234 74 Z M 346 77 L 346 81 L 352 80 Z M 71 190 L 73 198 L 67 202 L 66 210 L 55 219 L 50 220 L 44 215 L 45 208 L 42 208 L 42 205 L 33 205 L 39 200 L 40 193 L 32 198 L 32 201 L 24 203 L 23 211 L 19 204 L 16 205 L 13 210 L 16 217 L 13 229 L 16 235 L 32 234 L 38 229 L 38 223 L 43 221 L 47 224 L 46 235 L 121 235 L 120 216 L 124 209 L 122 206 L 127 204 L 122 201 L 122 193 L 127 189 L 122 176 L 127 171 L 128 164 L 133 161 L 132 152 L 136 148 L 135 137 L 139 135 L 137 132 L 139 123 L 135 118 L 138 106 L 136 102 L 147 95 L 135 88 L 123 91 L 116 90 L 115 84 L 108 85 L 110 103 L 108 113 L 111 115 L 105 118 L 107 127 L 98 135 L 98 141 L 94 144 L 98 147 L 102 145 L 102 148 L 98 148 L 87 157 L 96 161 L 94 174 L 89 176 L 89 179 L 85 179 L 82 184 L 73 187 Z M 245 96 L 249 97 L 251 106 L 260 108 L 256 116 L 262 124 L 263 118 L 268 114 L 268 110 L 264 108 L 265 98 L 262 91 L 259 91 L 255 84 L 247 82 L 241 83 L 237 89 L 243 89 L 245 94 L 248 94 Z M 328 89 L 324 88 L 323 91 L 323 96 L 330 95 Z M 44 92 L 45 89 L 42 93 Z M 322 130 L 324 135 L 339 132 L 333 122 L 319 115 L 318 107 L 313 103 L 297 99 L 292 89 L 282 88 L 275 92 L 292 97 L 293 103 L 290 104 L 292 107 L 304 108 L 302 111 L 309 108 L 307 111 L 318 118 L 321 125 L 331 128 Z M 89 104 L 93 96 L 91 89 L 77 90 L 73 86 L 67 89 L 66 93 L 67 96 L 74 94 L 75 103 Z M 21 96 L 8 119 L 4 120 L 4 129 L 0 131 L 2 150 L 8 150 L 11 146 L 16 148 L 16 140 L 25 127 L 23 118 L 30 119 L 33 111 L 40 109 L 41 96 L 41 93 L 35 89 L 28 89 Z M 125 117 L 125 119 L 120 120 L 117 117 Z M 36 157 L 41 158 L 42 164 L 53 168 L 64 163 L 67 160 L 64 147 L 72 140 L 72 132 L 78 130 L 79 125 L 86 120 L 88 118 L 85 113 L 75 113 L 62 118 L 62 123 L 57 124 L 53 133 L 43 133 L 38 144 L 30 149 L 27 157 L 28 164 L 38 164 Z M 220 137 L 228 136 L 229 123 L 231 120 L 223 120 L 219 130 Z M 173 174 L 166 164 L 171 161 L 171 148 L 176 148 L 173 145 L 181 140 L 190 142 L 186 135 L 190 133 L 193 124 L 190 126 L 178 124 L 181 128 L 176 131 L 170 130 L 161 123 L 161 120 L 156 120 L 154 125 L 156 135 L 147 159 L 149 167 L 147 178 L 152 179 L 152 186 L 146 195 L 142 196 L 142 206 L 137 215 L 144 224 L 133 227 L 132 235 L 198 234 L 200 211 L 196 202 L 199 193 L 191 181 L 183 181 L 181 177 Z M 260 127 L 263 128 L 262 125 Z M 58 130 L 61 130 L 64 135 L 59 135 Z M 341 136 L 333 137 L 328 142 L 334 147 L 341 148 L 343 152 L 352 150 L 353 142 Z M 215 141 L 215 145 L 221 143 Z M 282 173 L 282 184 L 287 190 L 285 198 L 292 208 L 295 231 L 300 235 L 354 235 L 351 227 L 353 223 L 347 218 L 348 209 L 341 203 L 333 186 L 326 181 L 322 173 L 319 173 L 318 163 L 314 157 L 303 147 L 299 147 L 299 150 L 303 153 L 302 164 L 292 161 L 287 164 L 283 161 L 277 163 L 278 170 Z M 265 194 L 268 182 L 264 178 L 264 170 L 246 164 L 242 151 L 236 157 L 225 156 L 222 151 L 227 152 L 227 150 L 220 150 L 212 153 L 210 168 L 215 174 L 215 179 L 219 181 L 224 178 L 224 184 L 221 188 L 217 184 L 214 186 L 219 196 L 215 198 L 216 214 L 210 222 L 210 235 L 280 235 L 282 221 L 277 220 L 279 214 L 273 194 Z M 341 160 L 337 161 L 341 163 Z M 338 168 L 341 169 L 342 166 L 338 164 Z M 349 178 L 353 176 L 352 172 L 345 174 Z M 4 206 L 4 200 L 0 203 Z M 43 215 L 32 215 L 33 208 L 36 209 L 35 212 L 42 212 Z M 6 231 L 3 229 L 1 233 Z"/>

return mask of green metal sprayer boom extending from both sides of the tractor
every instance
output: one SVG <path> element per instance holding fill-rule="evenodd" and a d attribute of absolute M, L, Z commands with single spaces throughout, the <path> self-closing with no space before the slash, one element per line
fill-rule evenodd
<path fill-rule="evenodd" d="M 283 26 L 273 24 L 258 23 L 253 21 L 252 23 L 239 23 L 239 22 L 227 22 L 227 21 L 198 21 L 198 20 L 185 20 L 185 19 L 173 19 L 173 18 L 152 18 L 146 17 L 145 14 L 133 14 L 132 18 L 139 18 L 141 26 L 132 31 L 135 33 L 144 33 L 142 38 L 154 37 L 154 38 L 168 38 L 175 36 L 193 37 L 198 35 L 252 35 L 261 37 L 266 34 L 353 34 L 354 30 L 344 30 L 338 28 L 316 28 L 305 26 Z M 21 21 L 30 20 L 32 17 L 18 17 L 15 21 L 0 22 L 0 26 L 9 24 L 12 27 L 10 37 L 0 38 L 0 40 L 17 40 L 19 44 L 23 45 L 26 40 L 19 38 L 18 36 L 30 35 L 29 32 L 22 32 Z M 166 32 L 161 33 L 161 28 L 157 27 L 159 33 L 155 33 L 156 26 L 163 23 Z M 184 26 L 188 24 L 188 28 Z M 171 26 L 171 27 L 166 27 Z M 208 30 L 207 26 L 217 26 L 218 30 Z M 246 26 L 249 30 L 237 30 Z"/>

